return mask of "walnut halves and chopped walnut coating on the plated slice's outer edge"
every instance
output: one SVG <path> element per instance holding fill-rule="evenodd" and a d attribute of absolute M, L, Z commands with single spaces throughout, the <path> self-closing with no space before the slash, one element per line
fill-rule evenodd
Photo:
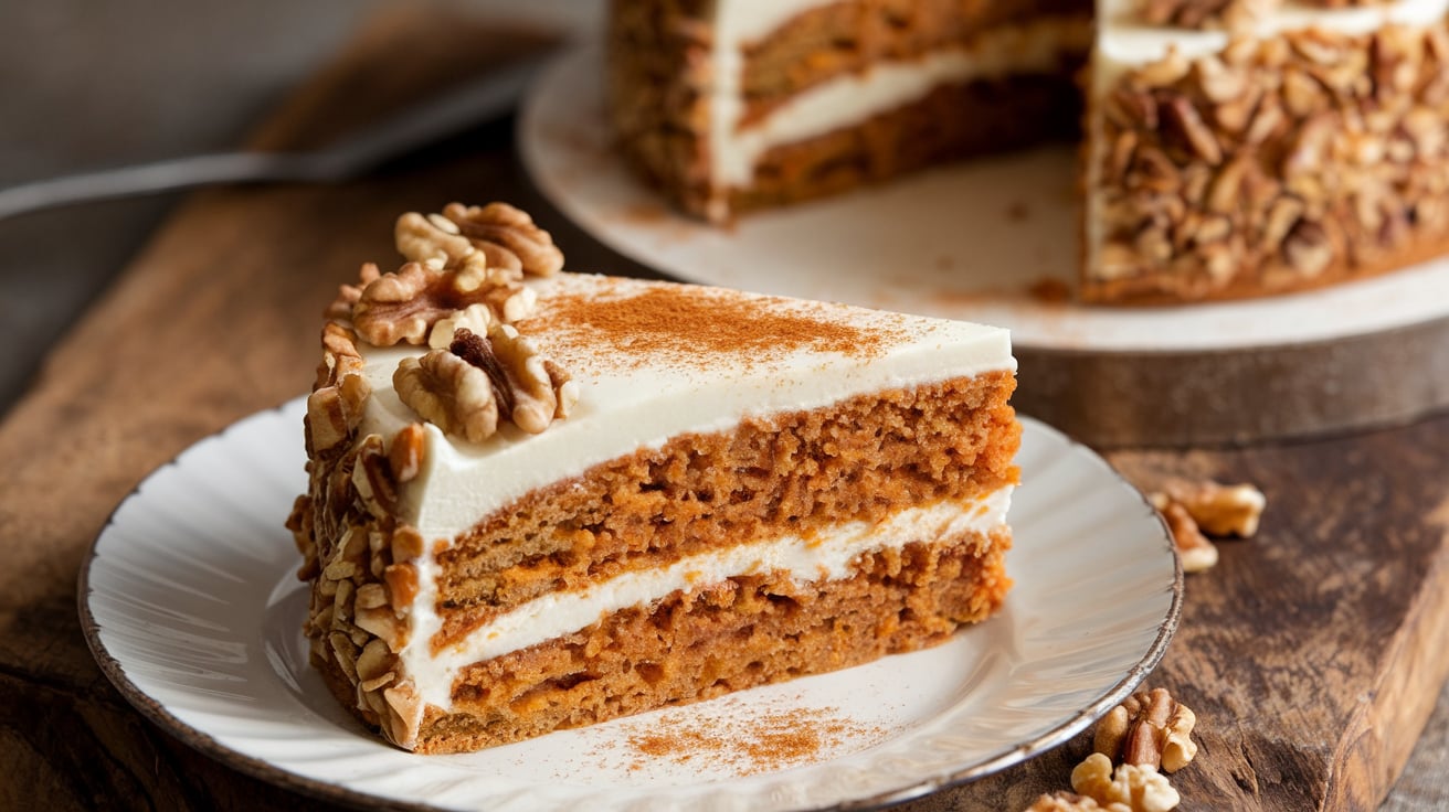
<path fill-rule="evenodd" d="M 549 276 L 564 265 L 552 237 L 527 214 L 501 203 L 454 203 L 442 214 L 401 216 L 394 239 L 407 262 L 385 274 L 364 265 L 358 282 L 342 285 L 325 313 L 322 363 L 304 418 L 309 488 L 287 527 L 304 560 L 297 575 L 312 582 L 304 624 L 312 657 L 341 672 L 365 721 L 393 744 L 413 748 L 426 706 L 398 653 L 409 643 L 423 538 L 397 520 L 396 508 L 400 488 L 425 466 L 423 423 L 469 440 L 485 439 L 500 420 L 538 433 L 567 417 L 578 394 L 568 373 L 511 326 L 536 310 L 525 278 Z M 468 352 L 454 352 L 459 337 L 472 350 L 483 344 L 496 376 L 469 363 Z M 409 401 L 419 423 L 390 439 L 359 431 L 371 395 L 362 343 L 429 344 L 433 350 L 422 363 L 456 362 L 426 381 L 400 368 L 403 399 L 409 391 L 426 398 Z M 483 379 L 481 391 L 456 365 Z M 459 418 L 459 404 L 469 398 L 485 399 L 491 418 L 472 411 Z"/>

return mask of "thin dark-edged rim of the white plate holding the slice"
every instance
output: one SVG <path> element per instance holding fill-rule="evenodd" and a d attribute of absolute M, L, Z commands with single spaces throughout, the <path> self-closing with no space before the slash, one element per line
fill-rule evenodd
<path fill-rule="evenodd" d="M 242 430 L 245 424 L 256 423 L 268 417 L 283 417 L 288 410 L 298 408 L 306 397 L 297 397 L 288 399 L 283 404 L 277 404 L 268 408 L 254 411 L 227 426 L 207 434 L 180 453 L 177 453 L 170 460 L 161 463 L 159 466 L 151 469 L 136 485 L 117 501 L 116 507 L 107 514 L 104 524 L 96 533 L 96 537 L 90 541 L 84 559 L 81 560 L 80 570 L 77 572 L 77 609 L 81 624 L 81 633 L 85 638 L 85 646 L 90 648 L 91 657 L 96 660 L 101 673 L 106 679 L 120 692 L 126 702 L 139 711 L 146 719 L 159 727 L 170 735 L 177 737 L 183 744 L 203 753 L 204 756 L 220 763 L 223 767 L 235 769 L 245 773 L 254 779 L 264 780 L 272 786 L 278 786 L 285 790 L 297 792 L 312 798 L 319 798 L 322 800 L 329 800 L 335 803 L 342 803 L 348 806 L 367 806 L 371 809 L 396 809 L 407 812 L 439 812 L 448 808 L 432 806 L 419 802 L 404 802 L 383 795 L 374 795 L 362 792 L 359 789 L 352 789 L 341 783 L 317 780 L 300 773 L 290 771 L 270 760 L 242 753 L 241 750 L 227 747 L 222 744 L 212 732 L 194 727 L 180 716 L 168 711 L 158 699 L 146 693 L 141 686 L 138 686 L 128 674 L 125 664 L 106 647 L 101 640 L 101 624 L 96 618 L 96 614 L 90 605 L 91 596 L 96 589 L 91 586 L 91 566 L 100 559 L 100 544 L 106 540 L 110 530 L 117 527 L 117 514 L 122 508 L 130 504 L 133 499 L 139 498 L 143 488 L 154 478 L 161 475 L 164 470 L 171 468 L 180 468 L 184 463 L 184 457 L 191 456 L 201 446 L 212 443 L 222 443 L 229 434 L 235 434 Z M 975 761 L 959 770 L 945 771 L 927 779 L 916 780 L 909 786 L 882 790 L 872 793 L 869 796 L 840 800 L 836 803 L 829 803 L 824 806 L 810 805 L 810 806 L 793 806 L 800 812 L 804 811 L 820 811 L 820 809 L 881 809 L 887 806 L 894 806 L 897 803 L 904 803 L 907 800 L 920 799 L 946 789 L 962 786 L 1019 763 L 1023 763 L 1032 757 L 1042 756 L 1049 750 L 1059 747 L 1066 743 L 1082 729 L 1085 729 L 1091 722 L 1103 716 L 1113 706 L 1124 701 L 1132 690 L 1139 686 L 1148 674 L 1162 661 L 1166 654 L 1168 646 L 1177 633 L 1181 622 L 1182 605 L 1185 599 L 1185 583 L 1181 557 L 1177 554 L 1175 547 L 1171 541 L 1171 531 L 1166 523 L 1162 520 L 1161 514 L 1152 508 L 1148 498 L 1127 479 L 1108 463 L 1101 454 L 1094 452 L 1084 443 L 1077 441 L 1068 434 L 1056 430 L 1055 427 L 1042 423 L 1040 420 L 1032 418 L 1030 415 L 1019 414 L 1017 418 L 1023 424 L 1023 431 L 1030 426 L 1033 431 L 1043 431 L 1049 439 L 1064 443 L 1065 447 L 1072 453 L 1085 453 L 1091 462 L 1094 462 L 1107 475 L 1116 479 L 1120 485 L 1126 486 L 1132 494 L 1146 507 L 1151 512 L 1149 515 L 1159 525 L 1164 540 L 1166 543 L 1166 550 L 1172 557 L 1172 585 L 1171 585 L 1171 599 L 1168 605 L 1168 612 L 1158 622 L 1156 634 L 1152 644 L 1146 648 L 1142 659 L 1137 660 L 1127 672 L 1119 679 L 1101 698 L 1087 706 L 1078 709 L 1072 716 L 1064 719 L 1061 724 L 1043 731 L 1040 735 L 1016 743 L 1014 745 L 1003 750 L 997 756 Z M 829 761 L 824 761 L 829 763 Z"/>

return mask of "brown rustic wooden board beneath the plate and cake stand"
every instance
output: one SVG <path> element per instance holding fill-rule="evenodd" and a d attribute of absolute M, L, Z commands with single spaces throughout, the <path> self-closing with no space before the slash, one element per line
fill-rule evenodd
<path fill-rule="evenodd" d="M 255 145 L 317 143 L 539 42 L 394 13 Z M 539 200 L 500 124 L 365 182 L 191 198 L 55 347 L 0 424 L 0 760 L 12 779 L 0 782 L 0 808 L 36 798 L 55 809 L 303 803 L 288 782 L 213 761 L 120 698 L 83 640 L 75 573 L 149 470 L 304 392 L 336 285 L 361 262 L 393 256 L 398 213 L 451 200 L 510 200 L 538 214 L 572 266 L 648 274 Z M 1377 806 L 1449 674 L 1449 417 L 1291 446 L 1110 459 L 1140 482 L 1249 481 L 1269 499 L 1256 540 L 1223 544 L 1219 566 L 1188 579 L 1181 631 L 1148 680 L 1200 719 L 1198 760 L 1174 776 L 1184 809 Z M 1065 789 L 1085 750 L 1077 740 L 909 808 L 1022 809 Z"/>

